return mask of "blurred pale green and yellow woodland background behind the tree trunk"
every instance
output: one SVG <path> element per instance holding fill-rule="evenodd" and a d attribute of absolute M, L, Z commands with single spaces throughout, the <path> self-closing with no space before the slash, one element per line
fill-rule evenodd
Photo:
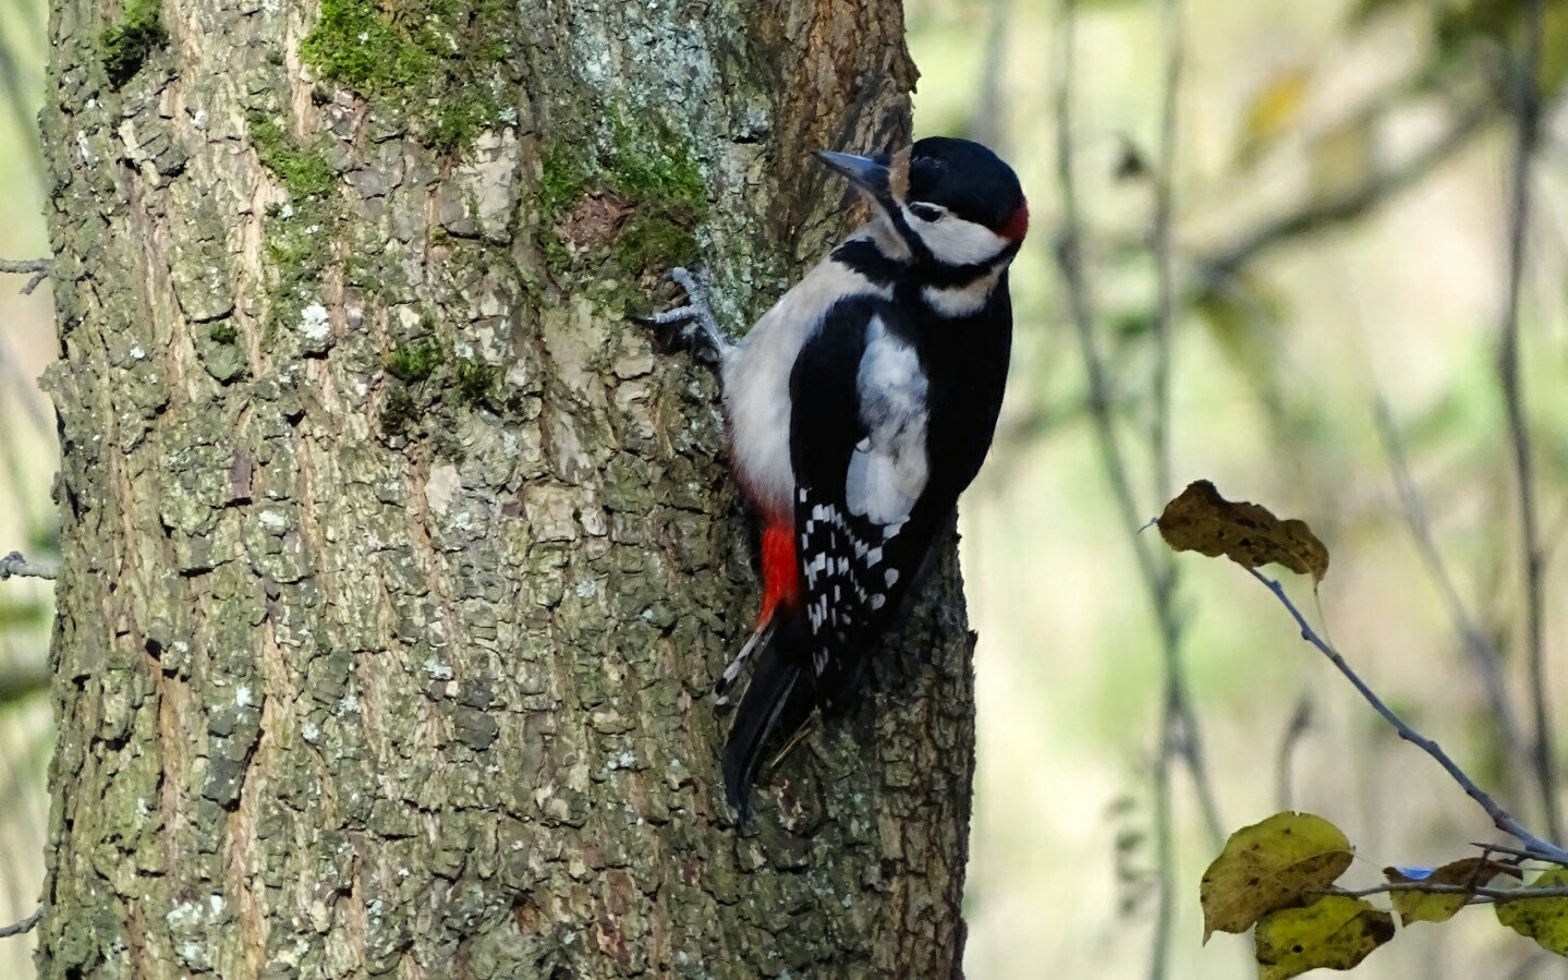
<path fill-rule="evenodd" d="M 1562 745 L 1568 0 L 1537 2 L 1543 116 L 1521 383 L 1544 693 Z M 1137 536 L 1189 480 L 1308 519 L 1334 555 L 1322 610 L 1352 663 L 1526 823 L 1548 826 L 1529 759 L 1530 610 L 1497 370 L 1529 11 L 1529 0 L 908 0 L 917 132 L 996 146 L 1033 212 L 1013 274 L 1004 428 L 963 516 L 982 635 L 966 898 L 975 980 L 1251 977 L 1245 939 L 1200 947 L 1198 878 L 1217 831 L 1278 809 L 1342 826 L 1364 884 L 1385 864 L 1436 864 L 1496 839 L 1245 572 L 1171 561 L 1152 532 Z M 44 19 L 41 0 L 0 0 L 3 259 L 47 252 L 34 129 Z M 1073 278 L 1057 262 L 1063 243 L 1080 259 Z M 22 296 L 24 282 L 0 278 L 0 552 L 49 560 L 56 448 L 31 378 L 53 325 L 49 285 Z M 1090 328 L 1090 348 L 1076 326 Z M 1151 582 L 1168 583 L 1167 601 L 1151 599 Z M 42 875 L 50 612 L 47 583 L 0 585 L 6 920 L 31 911 Z M 1416 925 L 1358 975 L 1562 975 L 1490 914 L 1468 916 Z M 28 975 L 28 946 L 0 941 L 0 975 Z"/>

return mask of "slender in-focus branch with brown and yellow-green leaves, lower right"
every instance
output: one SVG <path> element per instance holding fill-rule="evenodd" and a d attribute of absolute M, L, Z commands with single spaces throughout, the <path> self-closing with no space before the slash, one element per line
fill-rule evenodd
<path fill-rule="evenodd" d="M 1232 833 L 1204 872 L 1200 887 L 1204 938 L 1254 928 L 1258 963 L 1269 980 L 1317 967 L 1350 969 L 1396 936 L 1392 916 L 1366 900 L 1386 894 L 1406 925 L 1444 922 L 1468 905 L 1494 905 L 1502 925 L 1568 956 L 1568 850 L 1527 828 L 1443 746 L 1400 718 L 1323 640 L 1284 585 L 1258 571 L 1283 564 L 1309 574 L 1316 586 L 1330 566 L 1330 552 L 1317 535 L 1305 522 L 1281 521 L 1256 503 L 1229 502 L 1206 480 L 1173 499 L 1156 524 L 1171 549 L 1223 555 L 1267 586 L 1295 619 L 1301 638 L 1350 681 L 1400 739 L 1436 760 L 1493 825 L 1521 845 L 1479 845 L 1480 856 L 1436 869 L 1389 867 L 1386 884 L 1347 891 L 1338 884 L 1355 858 L 1345 834 L 1314 814 L 1275 814 Z M 1552 867 L 1523 889 L 1493 886 L 1499 878 L 1523 881 L 1521 866 L 1527 861 Z"/>

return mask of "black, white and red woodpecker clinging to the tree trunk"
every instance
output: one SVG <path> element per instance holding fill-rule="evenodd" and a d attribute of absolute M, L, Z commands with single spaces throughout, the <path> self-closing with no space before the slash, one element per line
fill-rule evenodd
<path fill-rule="evenodd" d="M 817 157 L 872 218 L 731 345 L 691 296 L 721 362 L 735 477 L 762 517 L 762 608 L 720 699 L 762 651 L 724 745 L 742 822 L 773 737 L 842 710 L 897 624 L 958 494 L 991 447 L 1013 310 L 1007 268 L 1029 230 L 1013 169 L 967 140 Z"/>

